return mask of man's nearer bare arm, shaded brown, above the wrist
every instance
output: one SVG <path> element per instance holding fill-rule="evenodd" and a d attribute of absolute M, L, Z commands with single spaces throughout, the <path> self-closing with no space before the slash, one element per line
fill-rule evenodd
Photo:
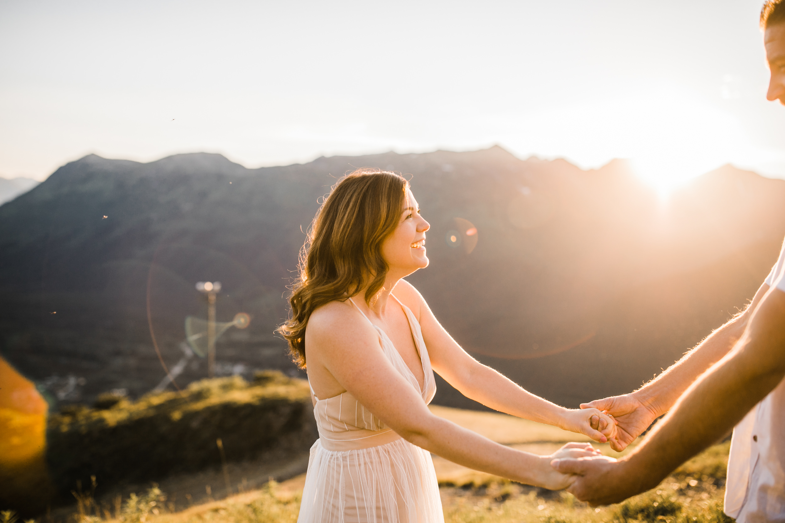
<path fill-rule="evenodd" d="M 785 292 L 769 292 L 742 340 L 699 378 L 638 449 L 623 459 L 640 490 L 717 441 L 785 376 Z"/>

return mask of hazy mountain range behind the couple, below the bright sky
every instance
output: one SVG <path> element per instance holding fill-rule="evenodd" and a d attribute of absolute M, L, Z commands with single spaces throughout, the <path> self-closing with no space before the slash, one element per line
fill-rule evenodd
<path fill-rule="evenodd" d="M 302 231 L 352 165 L 413 176 L 431 266 L 408 279 L 456 340 L 570 406 L 639 386 L 721 325 L 785 234 L 785 181 L 730 166 L 661 199 L 625 162 L 582 171 L 500 147 L 262 169 L 90 155 L 0 207 L 3 357 L 62 401 L 141 394 L 164 377 L 151 332 L 175 365 L 184 318 L 206 317 L 195 282 L 221 281 L 218 321 L 252 320 L 218 341 L 218 369 L 293 369 L 272 332 Z M 205 374 L 192 358 L 177 382 Z M 436 401 L 472 406 L 444 383 Z"/>

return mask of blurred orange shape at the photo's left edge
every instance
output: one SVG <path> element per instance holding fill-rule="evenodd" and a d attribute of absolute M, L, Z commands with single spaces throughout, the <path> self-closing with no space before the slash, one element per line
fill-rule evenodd
<path fill-rule="evenodd" d="M 35 384 L 0 358 L 0 506 L 22 514 L 48 497 L 46 412 Z"/>

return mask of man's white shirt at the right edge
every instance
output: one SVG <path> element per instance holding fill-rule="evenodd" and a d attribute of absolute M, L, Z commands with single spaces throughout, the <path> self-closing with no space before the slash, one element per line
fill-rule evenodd
<path fill-rule="evenodd" d="M 785 244 L 765 283 L 785 292 Z M 739 523 L 785 521 L 785 380 L 733 429 L 725 514 Z"/>

